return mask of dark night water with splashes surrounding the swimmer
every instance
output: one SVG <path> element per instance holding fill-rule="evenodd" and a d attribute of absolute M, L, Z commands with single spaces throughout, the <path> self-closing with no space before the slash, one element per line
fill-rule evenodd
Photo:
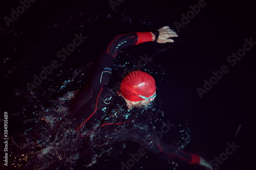
<path fill-rule="evenodd" d="M 16 10 L 20 2 L 2 4 L 0 111 L 2 120 L 4 112 L 8 112 L 9 157 L 5 166 L 2 142 L 1 168 L 26 169 L 26 165 L 36 164 L 39 169 L 50 169 L 50 165 L 57 169 L 59 164 L 60 169 L 85 168 L 79 159 L 79 135 L 86 131 L 76 134 L 72 125 L 65 122 L 69 104 L 90 76 L 91 64 L 112 36 L 167 25 L 179 33 L 177 42 L 145 43 L 123 50 L 110 85 L 120 81 L 120 72 L 137 65 L 140 56 L 151 58 L 142 70 L 156 79 L 159 119 L 192 131 L 191 140 L 190 135 L 177 129 L 162 140 L 173 142 L 173 137 L 178 136 L 187 151 L 208 161 L 224 155 L 218 168 L 217 161 L 213 161 L 216 169 L 254 169 L 255 46 L 233 66 L 226 61 L 243 48 L 245 38 L 256 41 L 253 5 L 249 1 L 205 1 L 195 17 L 181 28 L 175 27 L 175 21 L 182 22 L 181 14 L 186 15 L 191 10 L 189 6 L 197 4 L 198 1 L 126 0 L 113 11 L 109 1 L 37 0 L 10 22 L 10 27 L 4 17 L 11 17 L 11 9 Z M 75 34 L 88 37 L 61 61 L 57 52 L 73 43 Z M 26 84 L 33 83 L 33 75 L 39 76 L 42 66 L 47 67 L 54 60 L 59 66 L 30 91 Z M 204 79 L 209 81 L 214 76 L 212 71 L 221 70 L 223 65 L 229 71 L 201 99 L 197 88 L 203 88 Z M 0 134 L 4 141 L 3 121 Z M 239 148 L 225 158 L 228 142 Z M 121 169 L 121 162 L 130 159 L 129 154 L 138 148 L 139 145 L 127 143 L 118 157 L 105 151 L 102 153 L 106 155 L 98 158 L 95 154 L 87 163 L 94 164 L 91 169 Z M 199 165 L 176 166 L 148 154 L 131 169 L 204 169 Z"/>

